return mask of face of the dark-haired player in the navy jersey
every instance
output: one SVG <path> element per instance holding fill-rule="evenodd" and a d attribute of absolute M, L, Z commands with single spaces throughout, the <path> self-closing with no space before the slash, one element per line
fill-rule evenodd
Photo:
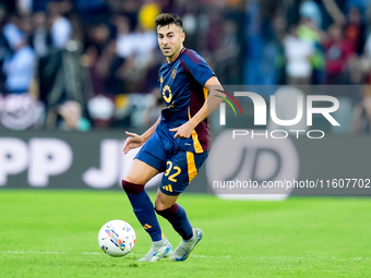
<path fill-rule="evenodd" d="M 158 46 L 168 62 L 172 62 L 179 56 L 184 37 L 182 28 L 176 24 L 157 27 Z"/>

